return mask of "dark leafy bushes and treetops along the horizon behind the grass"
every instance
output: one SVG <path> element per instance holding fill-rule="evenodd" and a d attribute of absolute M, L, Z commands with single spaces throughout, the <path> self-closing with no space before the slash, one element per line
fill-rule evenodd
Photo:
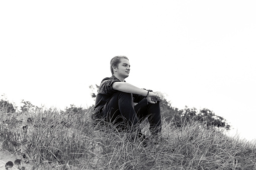
<path fill-rule="evenodd" d="M 89 86 L 91 89 L 91 96 L 95 100 L 96 94 L 98 93 L 99 86 Z M 2 95 L 3 97 L 3 95 Z M 21 105 L 21 112 L 26 111 L 35 111 L 40 109 L 40 107 L 33 105 L 29 101 L 22 100 Z M 94 106 L 91 106 L 92 109 Z M 166 99 L 160 102 L 161 114 L 162 118 L 165 121 L 173 121 L 174 124 L 178 127 L 186 124 L 189 121 L 200 121 L 206 127 L 208 126 L 215 126 L 218 128 L 225 128 L 227 130 L 230 129 L 230 125 L 228 124 L 227 120 L 221 116 L 216 115 L 213 111 L 204 108 L 201 110 L 197 110 L 196 108 L 188 108 L 187 106 L 184 109 L 178 109 L 173 107 L 170 101 Z M 7 113 L 12 113 L 17 111 L 17 107 L 15 107 L 12 103 L 10 103 L 7 99 L 0 100 L 0 111 L 4 111 Z M 89 109 L 83 109 L 81 107 L 76 107 L 75 105 L 71 104 L 70 107 L 66 107 L 65 112 L 86 112 Z M 64 112 L 61 110 L 61 112 Z"/>

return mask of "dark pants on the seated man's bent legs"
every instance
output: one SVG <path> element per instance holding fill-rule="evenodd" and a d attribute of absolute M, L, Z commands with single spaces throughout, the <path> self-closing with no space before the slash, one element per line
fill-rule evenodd
<path fill-rule="evenodd" d="M 121 127 L 138 126 L 147 117 L 151 134 L 157 135 L 161 131 L 159 101 L 151 104 L 144 98 L 134 106 L 131 93 L 118 91 L 105 104 L 103 114 L 107 122 L 118 124 Z"/>

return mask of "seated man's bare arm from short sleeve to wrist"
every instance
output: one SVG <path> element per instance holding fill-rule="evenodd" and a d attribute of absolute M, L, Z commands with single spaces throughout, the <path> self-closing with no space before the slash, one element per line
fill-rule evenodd
<path fill-rule="evenodd" d="M 132 84 L 126 83 L 126 82 L 115 82 L 112 85 L 112 88 L 114 90 L 122 91 L 125 93 L 132 93 L 132 94 L 138 94 L 142 96 L 147 96 L 147 90 L 141 89 L 139 87 L 136 87 Z M 148 96 L 155 97 L 155 94 L 152 92 L 148 93 Z"/>

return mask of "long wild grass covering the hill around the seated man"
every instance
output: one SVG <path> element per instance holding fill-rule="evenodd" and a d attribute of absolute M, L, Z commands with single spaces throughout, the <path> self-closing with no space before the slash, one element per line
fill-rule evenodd
<path fill-rule="evenodd" d="M 129 141 L 130 133 L 95 124 L 91 115 L 92 109 L 3 109 L 0 149 L 15 154 L 25 169 L 256 169 L 255 143 L 228 137 L 221 129 L 199 122 L 176 128 L 163 121 L 167 143 L 155 145 L 152 139 L 144 147 L 139 140 Z M 143 133 L 149 136 L 146 122 Z"/>

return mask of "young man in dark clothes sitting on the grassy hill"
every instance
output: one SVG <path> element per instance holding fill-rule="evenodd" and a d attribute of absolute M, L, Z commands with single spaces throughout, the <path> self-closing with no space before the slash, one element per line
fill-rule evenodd
<path fill-rule="evenodd" d="M 117 124 L 121 128 L 138 126 L 146 117 L 151 135 L 161 131 L 160 101 L 164 96 L 133 86 L 125 81 L 130 73 L 126 56 L 110 62 L 112 76 L 102 80 L 95 101 L 95 118 Z M 134 106 L 134 102 L 138 103 Z"/>

